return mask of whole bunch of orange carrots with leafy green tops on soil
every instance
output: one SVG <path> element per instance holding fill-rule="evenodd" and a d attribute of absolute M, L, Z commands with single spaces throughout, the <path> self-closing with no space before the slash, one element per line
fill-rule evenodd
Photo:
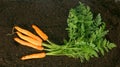
<path fill-rule="evenodd" d="M 38 36 L 15 26 L 14 29 L 18 35 L 14 38 L 16 42 L 41 51 L 41 53 L 23 56 L 21 60 L 44 58 L 46 55 L 65 55 L 79 58 L 83 62 L 92 57 L 98 57 L 98 52 L 104 55 L 104 50 L 108 52 L 109 49 L 116 47 L 114 43 L 104 38 L 108 31 L 105 30 L 101 16 L 98 14 L 94 19 L 90 8 L 81 2 L 79 6 L 70 10 L 67 23 L 69 40 L 64 40 L 64 45 L 49 41 L 48 36 L 36 25 L 32 25 L 32 28 Z"/>

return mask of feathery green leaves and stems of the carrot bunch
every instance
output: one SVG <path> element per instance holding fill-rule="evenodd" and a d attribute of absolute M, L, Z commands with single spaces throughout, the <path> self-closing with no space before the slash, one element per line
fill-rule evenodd
<path fill-rule="evenodd" d="M 58 45 L 47 40 L 48 43 L 42 43 L 46 55 L 66 55 L 73 58 L 79 58 L 81 62 L 98 57 L 98 53 L 104 55 L 116 47 L 110 43 L 105 35 L 108 30 L 105 29 L 105 23 L 101 21 L 98 14 L 93 17 L 88 6 L 80 3 L 72 8 L 67 19 L 69 40 L 65 40 L 64 45 Z"/>

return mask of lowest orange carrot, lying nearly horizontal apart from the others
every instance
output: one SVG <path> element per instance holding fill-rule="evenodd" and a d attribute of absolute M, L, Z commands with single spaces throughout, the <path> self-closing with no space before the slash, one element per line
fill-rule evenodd
<path fill-rule="evenodd" d="M 42 52 L 42 53 L 23 56 L 21 58 L 21 60 L 34 59 L 34 58 L 44 58 L 45 56 L 46 56 L 46 53 Z"/>

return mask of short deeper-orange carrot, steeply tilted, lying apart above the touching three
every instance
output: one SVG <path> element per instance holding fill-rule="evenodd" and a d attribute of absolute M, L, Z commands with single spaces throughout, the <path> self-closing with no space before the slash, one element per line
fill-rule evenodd
<path fill-rule="evenodd" d="M 48 40 L 48 36 L 41 30 L 39 29 L 36 25 L 32 25 L 32 28 L 37 32 L 37 34 L 43 39 L 43 40 Z"/>

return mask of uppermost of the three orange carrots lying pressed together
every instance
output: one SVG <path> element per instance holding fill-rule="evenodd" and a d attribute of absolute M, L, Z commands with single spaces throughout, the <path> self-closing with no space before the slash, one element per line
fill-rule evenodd
<path fill-rule="evenodd" d="M 38 41 L 41 41 L 41 38 L 39 38 L 38 36 L 32 34 L 32 33 L 29 32 L 28 30 L 22 29 L 22 28 L 20 28 L 20 27 L 18 27 L 18 26 L 15 26 L 14 28 L 15 28 L 17 31 L 19 31 L 19 32 L 21 32 L 21 33 L 23 33 L 23 34 L 25 34 L 25 35 L 27 35 L 27 36 L 29 36 L 29 37 L 32 37 L 32 38 L 34 38 L 34 39 L 36 39 L 36 40 L 38 40 Z"/>

